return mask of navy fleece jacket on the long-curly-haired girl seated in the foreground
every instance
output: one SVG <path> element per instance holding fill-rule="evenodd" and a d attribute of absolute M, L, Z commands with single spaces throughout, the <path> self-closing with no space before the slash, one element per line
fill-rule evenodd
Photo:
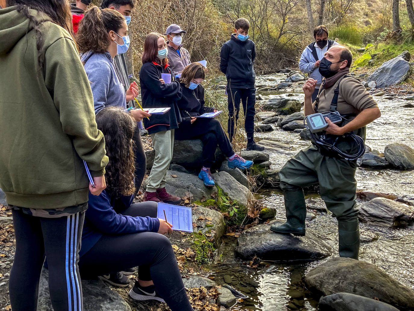
<path fill-rule="evenodd" d="M 159 219 L 132 217 L 118 214 L 113 207 L 126 209 L 132 204 L 134 195 L 112 197 L 105 190 L 99 196 L 89 193 L 88 209 L 82 231 L 82 247 L 79 256 L 90 250 L 101 236 L 119 236 L 138 232 L 158 232 Z"/>

